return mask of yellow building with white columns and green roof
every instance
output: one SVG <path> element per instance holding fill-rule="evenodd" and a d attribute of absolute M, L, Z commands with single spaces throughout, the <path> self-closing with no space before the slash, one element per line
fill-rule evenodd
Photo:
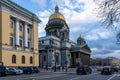
<path fill-rule="evenodd" d="M 38 23 L 32 12 L 0 0 L 0 62 L 4 66 L 38 66 Z"/>

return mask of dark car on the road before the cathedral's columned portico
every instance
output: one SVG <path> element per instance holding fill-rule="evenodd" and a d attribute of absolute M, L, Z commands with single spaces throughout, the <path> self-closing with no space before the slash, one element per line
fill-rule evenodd
<path fill-rule="evenodd" d="M 76 70 L 77 74 L 91 74 L 92 69 L 89 66 L 79 66 Z"/>

